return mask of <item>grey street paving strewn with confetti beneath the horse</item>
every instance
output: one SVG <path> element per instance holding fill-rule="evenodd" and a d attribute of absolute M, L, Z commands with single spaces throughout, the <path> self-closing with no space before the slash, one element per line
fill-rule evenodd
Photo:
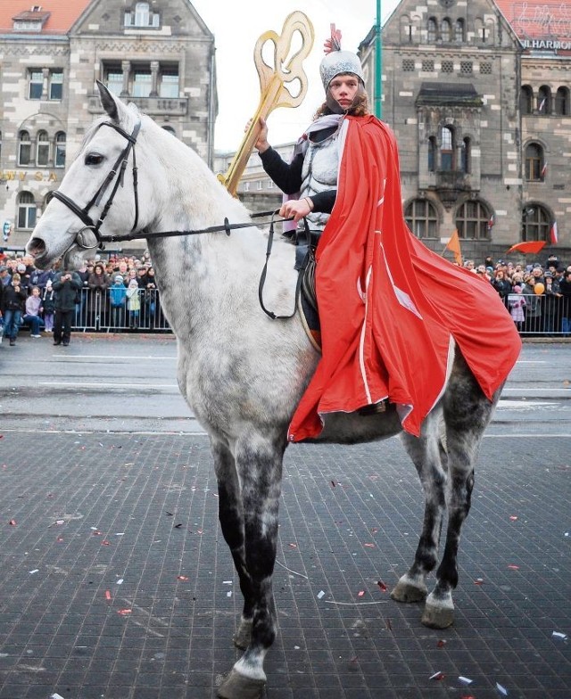
<path fill-rule="evenodd" d="M 137 415 L 109 432 L 115 401 L 128 407 L 123 388 L 102 391 L 101 415 L 81 432 L 82 418 L 69 418 L 69 431 L 62 416 L 46 420 L 41 391 L 52 389 L 40 387 L 34 428 L 34 365 L 24 365 L 37 347 L 1 348 L 2 406 L 18 405 L 12 358 L 27 378 L 21 430 L 11 415 L 0 429 L 0 699 L 213 699 L 239 657 L 241 596 L 207 438 L 133 432 Z M 114 349 L 121 375 L 125 347 Z M 104 354 L 87 340 L 71 349 L 78 376 L 82 352 L 91 366 Z M 389 597 L 422 517 L 400 441 L 287 449 L 268 699 L 571 697 L 570 377 L 560 351 L 525 348 L 484 437 L 451 629 L 426 629 L 418 604 Z M 64 388 L 54 413 L 80 413 L 83 398 L 71 410 Z M 167 415 L 174 389 L 160 391 Z"/>

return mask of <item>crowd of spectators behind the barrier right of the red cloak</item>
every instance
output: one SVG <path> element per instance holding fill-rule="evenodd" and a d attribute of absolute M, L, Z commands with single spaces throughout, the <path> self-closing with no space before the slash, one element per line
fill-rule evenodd
<path fill-rule="evenodd" d="M 477 267 L 468 259 L 464 267 L 492 284 L 520 333 L 571 335 L 571 265 L 557 255 L 533 264 L 486 258 Z"/>

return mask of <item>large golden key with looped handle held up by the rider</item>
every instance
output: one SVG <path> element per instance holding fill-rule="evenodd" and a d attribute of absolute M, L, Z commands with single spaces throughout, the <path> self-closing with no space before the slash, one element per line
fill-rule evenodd
<path fill-rule="evenodd" d="M 299 51 L 294 53 L 290 60 L 285 63 L 296 31 L 301 34 L 302 45 Z M 262 56 L 262 49 L 267 41 L 271 41 L 274 45 L 273 67 L 269 66 Z M 260 103 L 228 172 L 226 175 L 218 176 L 219 181 L 226 186 L 229 193 L 236 194 L 238 182 L 252 153 L 253 144 L 260 136 L 260 117 L 267 119 L 269 113 L 277 107 L 298 107 L 303 102 L 307 93 L 308 79 L 302 68 L 302 62 L 307 58 L 312 46 L 313 25 L 308 17 L 299 10 L 292 12 L 285 18 L 281 37 L 275 31 L 269 30 L 262 34 L 256 42 L 253 60 L 260 77 Z M 297 95 L 293 95 L 287 89 L 287 86 L 293 87 L 295 81 L 298 81 L 300 86 Z"/>

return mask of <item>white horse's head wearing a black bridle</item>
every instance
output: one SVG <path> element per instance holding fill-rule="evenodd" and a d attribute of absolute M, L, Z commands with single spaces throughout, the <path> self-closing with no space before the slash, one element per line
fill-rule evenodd
<path fill-rule="evenodd" d="M 57 259 L 73 269 L 93 258 L 100 234 L 125 233 L 145 227 L 139 201 L 150 196 L 149 184 L 138 185 L 136 144 L 142 115 L 98 82 L 107 117 L 89 128 L 76 159 L 52 193 L 27 251 L 37 267 Z M 132 173 L 132 174 L 131 174 Z"/>

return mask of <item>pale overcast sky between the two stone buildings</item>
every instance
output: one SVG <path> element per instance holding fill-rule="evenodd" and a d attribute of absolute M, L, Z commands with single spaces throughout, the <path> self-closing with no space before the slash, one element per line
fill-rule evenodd
<path fill-rule="evenodd" d="M 253 49 L 262 34 L 272 29 L 281 35 L 285 18 L 295 10 L 302 10 L 309 17 L 315 31 L 313 49 L 304 63 L 309 80 L 305 100 L 300 107 L 280 108 L 269 117 L 269 142 L 283 144 L 301 136 L 323 102 L 319 62 L 329 24 L 333 22 L 341 29 L 342 48 L 357 51 L 377 17 L 377 0 L 225 0 L 223 8 L 213 0 L 191 2 L 216 40 L 219 114 L 214 142 L 217 150 L 228 151 L 235 151 L 240 145 L 244 126 L 260 102 Z M 397 4 L 399 0 L 381 0 L 383 22 Z"/>

